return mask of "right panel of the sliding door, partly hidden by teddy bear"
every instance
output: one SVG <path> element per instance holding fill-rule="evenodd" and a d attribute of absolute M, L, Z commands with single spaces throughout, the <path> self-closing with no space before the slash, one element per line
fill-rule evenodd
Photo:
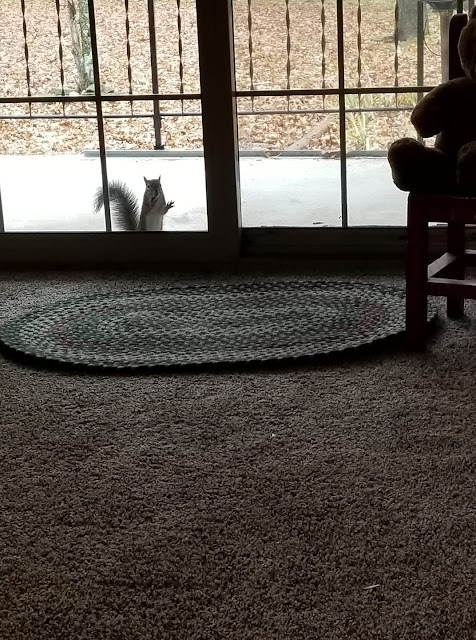
<path fill-rule="evenodd" d="M 472 0 L 233 0 L 243 235 L 249 252 L 404 249 L 390 144 L 447 79 Z M 426 141 L 433 144 L 433 140 Z"/>

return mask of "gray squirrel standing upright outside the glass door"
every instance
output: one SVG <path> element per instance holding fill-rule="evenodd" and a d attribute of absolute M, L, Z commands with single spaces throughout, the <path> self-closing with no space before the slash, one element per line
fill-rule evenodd
<path fill-rule="evenodd" d="M 142 207 L 133 191 L 119 180 L 109 183 L 111 213 L 124 231 L 162 231 L 164 216 L 174 206 L 173 200 L 166 202 L 160 176 L 157 180 L 144 177 L 145 191 Z M 94 196 L 94 211 L 104 206 L 104 194 L 101 188 Z"/>

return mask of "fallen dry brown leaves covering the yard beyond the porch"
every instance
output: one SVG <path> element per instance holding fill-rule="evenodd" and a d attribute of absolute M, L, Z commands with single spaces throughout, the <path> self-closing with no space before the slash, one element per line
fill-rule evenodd
<path fill-rule="evenodd" d="M 181 0 L 181 39 L 183 47 L 183 90 L 199 92 L 198 47 L 194 0 Z M 30 90 L 32 95 L 53 95 L 60 89 L 60 56 L 58 16 L 55 0 L 25 0 L 27 44 L 29 54 Z M 321 88 L 338 86 L 338 56 L 335 3 L 329 0 L 289 0 L 290 11 L 290 76 L 287 77 L 286 3 L 284 0 L 235 0 L 234 29 L 237 88 L 246 91 L 250 79 L 249 7 L 252 18 L 252 70 L 255 89 Z M 357 86 L 358 0 L 346 0 L 345 81 Z M 152 91 L 150 72 L 149 29 L 146 0 L 130 0 L 132 90 Z M 360 34 L 360 82 L 365 87 L 394 86 L 395 45 L 393 43 L 394 2 L 392 0 L 362 0 Z M 179 74 L 178 8 L 176 0 L 156 0 L 157 53 L 160 91 L 178 93 Z M 323 18 L 324 17 L 324 21 Z M 127 79 L 126 30 L 124 3 L 102 0 L 96 3 L 96 21 L 102 82 L 118 93 L 129 91 Z M 23 17 L 17 0 L 0 0 L 1 93 L 4 96 L 27 95 Z M 65 86 L 75 89 L 76 70 L 71 53 L 68 13 L 65 0 L 60 0 Z M 324 48 L 323 48 L 324 47 Z M 429 13 L 425 37 L 424 84 L 440 82 L 439 18 Z M 416 43 L 405 42 L 398 47 L 398 83 L 416 84 Z M 400 104 L 413 105 L 416 96 L 401 96 Z M 358 105 L 357 97 L 349 97 L 348 107 Z M 395 106 L 393 94 L 364 96 L 361 106 Z M 333 96 L 248 98 L 239 100 L 240 111 L 306 110 L 336 108 Z M 0 105 L 0 115 L 25 115 L 28 105 Z M 198 102 L 162 103 L 166 113 L 162 120 L 162 137 L 168 149 L 197 149 L 202 146 L 199 117 L 180 115 L 182 109 L 197 112 Z M 128 103 L 107 104 L 109 115 L 130 115 Z M 0 120 L 0 150 L 2 153 L 66 153 L 98 148 L 94 104 L 74 104 L 65 107 L 68 115 L 88 114 L 88 120 L 61 119 L 60 105 L 33 105 L 35 115 L 54 116 L 42 120 Z M 135 113 L 152 113 L 152 106 L 134 103 Z M 326 117 L 326 114 L 253 114 L 239 117 L 240 143 L 246 149 L 284 149 L 296 145 Z M 108 149 L 153 149 L 152 119 L 107 119 Z M 409 112 L 379 112 L 349 114 L 347 117 L 348 149 L 386 149 L 395 138 L 413 135 Z M 337 121 L 319 137 L 307 143 L 309 148 L 323 151 L 339 147 Z"/>

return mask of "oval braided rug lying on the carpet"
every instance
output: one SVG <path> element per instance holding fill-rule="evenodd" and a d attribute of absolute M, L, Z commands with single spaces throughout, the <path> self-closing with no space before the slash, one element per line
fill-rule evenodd
<path fill-rule="evenodd" d="M 429 304 L 428 320 L 436 316 Z M 356 282 L 264 282 L 129 290 L 38 305 L 0 327 L 24 354 L 93 367 L 298 358 L 404 330 L 402 288 Z"/>

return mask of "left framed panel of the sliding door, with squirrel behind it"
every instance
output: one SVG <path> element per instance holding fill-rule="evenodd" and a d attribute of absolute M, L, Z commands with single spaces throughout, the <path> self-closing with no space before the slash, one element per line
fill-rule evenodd
<path fill-rule="evenodd" d="M 204 0 L 1 4 L 4 260 L 238 257 L 231 31 L 216 37 L 228 9 Z M 173 206 L 160 232 L 118 233 L 131 229 L 125 214 L 141 210 L 144 178 L 160 178 L 158 195 Z"/>

